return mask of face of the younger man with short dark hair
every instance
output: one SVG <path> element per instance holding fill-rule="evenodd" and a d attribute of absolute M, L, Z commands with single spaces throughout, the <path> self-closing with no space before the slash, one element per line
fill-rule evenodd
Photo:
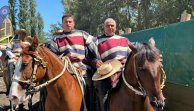
<path fill-rule="evenodd" d="M 71 32 L 74 30 L 75 22 L 72 17 L 65 17 L 63 18 L 63 23 L 62 23 L 64 32 Z"/>

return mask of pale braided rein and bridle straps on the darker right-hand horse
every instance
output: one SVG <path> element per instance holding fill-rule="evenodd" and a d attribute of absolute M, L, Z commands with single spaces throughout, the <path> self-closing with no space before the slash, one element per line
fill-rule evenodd
<path fill-rule="evenodd" d="M 136 65 L 135 65 L 135 59 L 134 59 L 134 69 L 136 70 Z M 162 80 L 162 83 L 161 83 L 161 89 L 163 89 L 163 87 L 165 86 L 165 82 L 166 82 L 166 74 L 165 74 L 165 71 L 164 71 L 164 69 L 163 69 L 163 66 L 160 66 L 160 69 L 161 69 L 161 71 L 162 71 L 162 74 L 163 74 L 163 80 Z M 146 92 L 145 92 L 145 90 L 144 90 L 144 88 L 142 87 L 142 85 L 141 85 L 141 83 L 140 83 L 140 81 L 139 81 L 139 79 L 138 79 L 138 74 L 137 74 L 137 71 L 135 71 L 136 72 L 136 78 L 137 78 L 137 82 L 138 82 L 138 84 L 139 84 L 139 89 L 141 90 L 141 91 L 139 91 L 139 90 L 137 90 L 137 89 L 135 89 L 132 85 L 130 85 L 127 81 L 126 81 L 126 79 L 125 79 L 125 75 L 124 75 L 124 70 L 122 71 L 122 79 L 123 79 L 123 81 L 124 81 L 124 83 L 125 83 L 125 85 L 129 88 L 129 89 L 131 89 L 135 94 L 137 94 L 137 95 L 141 95 L 141 96 L 146 96 Z"/>

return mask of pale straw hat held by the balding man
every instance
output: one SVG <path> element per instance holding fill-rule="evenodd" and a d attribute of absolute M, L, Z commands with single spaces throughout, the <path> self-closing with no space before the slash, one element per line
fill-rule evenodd
<path fill-rule="evenodd" d="M 106 79 L 112 76 L 113 74 L 115 74 L 116 72 L 118 72 L 121 67 L 122 67 L 122 64 L 120 63 L 120 61 L 116 59 L 106 61 L 94 73 L 92 80 L 98 81 L 98 80 Z"/>

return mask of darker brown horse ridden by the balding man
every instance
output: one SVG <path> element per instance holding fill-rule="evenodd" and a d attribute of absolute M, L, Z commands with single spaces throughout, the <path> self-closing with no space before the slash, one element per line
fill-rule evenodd
<path fill-rule="evenodd" d="M 160 84 L 163 69 L 155 41 L 150 39 L 149 44 L 129 47 L 132 53 L 118 86 L 109 95 L 108 111 L 163 110 L 165 98 Z"/>

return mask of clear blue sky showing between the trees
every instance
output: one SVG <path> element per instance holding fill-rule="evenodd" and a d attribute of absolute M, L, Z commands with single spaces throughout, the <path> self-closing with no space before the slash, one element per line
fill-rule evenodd
<path fill-rule="evenodd" d="M 8 0 L 1 0 L 0 8 L 4 5 L 8 5 Z M 45 32 L 50 30 L 51 24 L 61 23 L 61 17 L 64 12 L 61 0 L 36 0 L 36 5 L 36 11 L 40 12 L 44 20 Z"/>

